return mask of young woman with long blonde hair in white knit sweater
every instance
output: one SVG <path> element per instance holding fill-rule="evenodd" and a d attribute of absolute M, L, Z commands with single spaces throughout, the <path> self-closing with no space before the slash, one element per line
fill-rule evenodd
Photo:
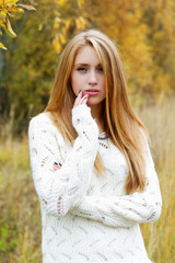
<path fill-rule="evenodd" d="M 161 193 L 114 43 L 94 30 L 65 48 L 44 113 L 30 123 L 44 263 L 149 263 L 139 224 Z"/>

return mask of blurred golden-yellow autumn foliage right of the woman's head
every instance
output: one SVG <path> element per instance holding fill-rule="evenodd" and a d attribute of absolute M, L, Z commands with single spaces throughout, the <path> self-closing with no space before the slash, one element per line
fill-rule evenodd
<path fill-rule="evenodd" d="M 175 1 L 91 0 L 97 28 L 117 44 L 131 99 L 153 102 L 175 91 Z M 107 8 L 106 8 L 107 7 Z"/>

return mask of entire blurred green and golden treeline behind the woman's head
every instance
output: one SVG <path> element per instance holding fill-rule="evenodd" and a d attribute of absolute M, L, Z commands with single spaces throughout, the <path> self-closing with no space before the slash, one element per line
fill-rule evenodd
<path fill-rule="evenodd" d="M 33 115 L 45 108 L 59 54 L 85 28 L 98 28 L 117 44 L 133 103 L 152 103 L 160 93 L 175 91 L 174 0 L 38 0 L 35 7 L 35 13 L 13 21 L 18 38 L 3 41 L 9 49 L 0 111 L 4 115 L 14 104 L 20 129 L 30 108 Z"/>

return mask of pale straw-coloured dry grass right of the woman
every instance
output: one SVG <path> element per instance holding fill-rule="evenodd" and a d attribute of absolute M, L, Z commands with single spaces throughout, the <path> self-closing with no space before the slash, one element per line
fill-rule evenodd
<path fill-rule="evenodd" d="M 163 197 L 161 218 L 145 224 L 142 232 L 149 255 L 156 263 L 175 262 L 175 100 L 143 108 L 141 117 L 150 132 L 152 155 Z"/>

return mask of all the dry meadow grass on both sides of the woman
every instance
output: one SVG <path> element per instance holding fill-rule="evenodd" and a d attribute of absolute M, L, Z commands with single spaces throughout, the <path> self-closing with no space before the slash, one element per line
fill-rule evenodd
<path fill-rule="evenodd" d="M 150 258 L 175 262 L 175 100 L 138 110 L 147 125 L 160 179 L 161 218 L 142 226 Z M 39 263 L 40 215 L 28 160 L 27 138 L 0 142 L 0 262 Z"/>

